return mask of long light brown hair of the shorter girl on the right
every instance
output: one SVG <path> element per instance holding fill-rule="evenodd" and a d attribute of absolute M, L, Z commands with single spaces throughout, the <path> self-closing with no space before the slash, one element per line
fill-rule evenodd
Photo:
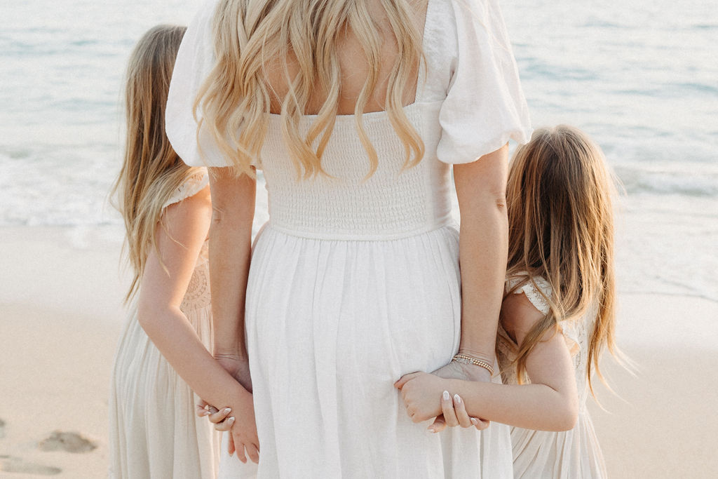
<path fill-rule="evenodd" d="M 614 194 L 615 180 L 600 148 L 578 129 L 538 129 L 516 150 L 507 187 L 507 277 L 518 283 L 507 294 L 528 282 L 541 292 L 533 281 L 537 276 L 551 285 L 551 297 L 545 297 L 549 314 L 518 348 L 520 382 L 526 358 L 544 334 L 558 332 L 559 320 L 577 320 L 596 305 L 587 365 L 592 394 L 592 372 L 604 381 L 602 351 L 621 357 L 615 345 Z"/>

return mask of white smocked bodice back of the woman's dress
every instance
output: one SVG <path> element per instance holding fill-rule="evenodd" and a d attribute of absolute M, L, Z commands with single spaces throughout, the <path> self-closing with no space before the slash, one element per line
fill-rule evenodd
<path fill-rule="evenodd" d="M 449 223 L 449 165 L 437 159 L 440 103 L 405 108 L 424 140 L 424 159 L 404 168 L 404 146 L 388 115 L 364 115 L 365 130 L 378 154 L 378 169 L 368 177 L 369 159 L 353 116 L 337 118 L 322 167 L 327 175 L 299 180 L 281 140 L 278 116 L 271 116 L 261 156 L 269 190 L 269 222 L 286 233 L 322 239 L 391 239 L 411 236 Z M 302 118 L 308 128 L 313 117 Z M 275 131 L 276 130 L 276 131 Z"/>

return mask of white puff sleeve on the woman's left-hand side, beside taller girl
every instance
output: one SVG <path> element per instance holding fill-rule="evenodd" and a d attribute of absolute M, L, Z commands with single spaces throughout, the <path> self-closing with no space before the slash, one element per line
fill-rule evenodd
<path fill-rule="evenodd" d="M 229 160 L 220 152 L 213 136 L 205 128 L 197 134 L 201 109 L 194 115 L 197 92 L 215 66 L 213 17 L 217 0 L 202 6 L 182 38 L 172 81 L 169 83 L 165 131 L 174 151 L 193 167 L 226 167 Z"/>

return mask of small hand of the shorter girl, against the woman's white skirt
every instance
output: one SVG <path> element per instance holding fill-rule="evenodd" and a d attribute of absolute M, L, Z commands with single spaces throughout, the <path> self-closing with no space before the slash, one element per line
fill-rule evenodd
<path fill-rule="evenodd" d="M 401 391 L 404 406 L 414 422 L 422 422 L 442 414 L 442 393 L 446 380 L 429 373 L 411 373 L 394 383 Z"/>

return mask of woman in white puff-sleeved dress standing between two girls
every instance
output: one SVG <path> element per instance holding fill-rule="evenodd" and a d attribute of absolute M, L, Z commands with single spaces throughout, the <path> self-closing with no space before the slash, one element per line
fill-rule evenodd
<path fill-rule="evenodd" d="M 495 1 L 211 1 L 167 134 L 210 167 L 215 357 L 253 390 L 214 403 L 238 456 L 267 478 L 510 477 L 506 427 L 426 434 L 393 389 L 495 363 L 505 145 L 530 134 Z M 256 169 L 270 220 L 252 251 Z"/>

